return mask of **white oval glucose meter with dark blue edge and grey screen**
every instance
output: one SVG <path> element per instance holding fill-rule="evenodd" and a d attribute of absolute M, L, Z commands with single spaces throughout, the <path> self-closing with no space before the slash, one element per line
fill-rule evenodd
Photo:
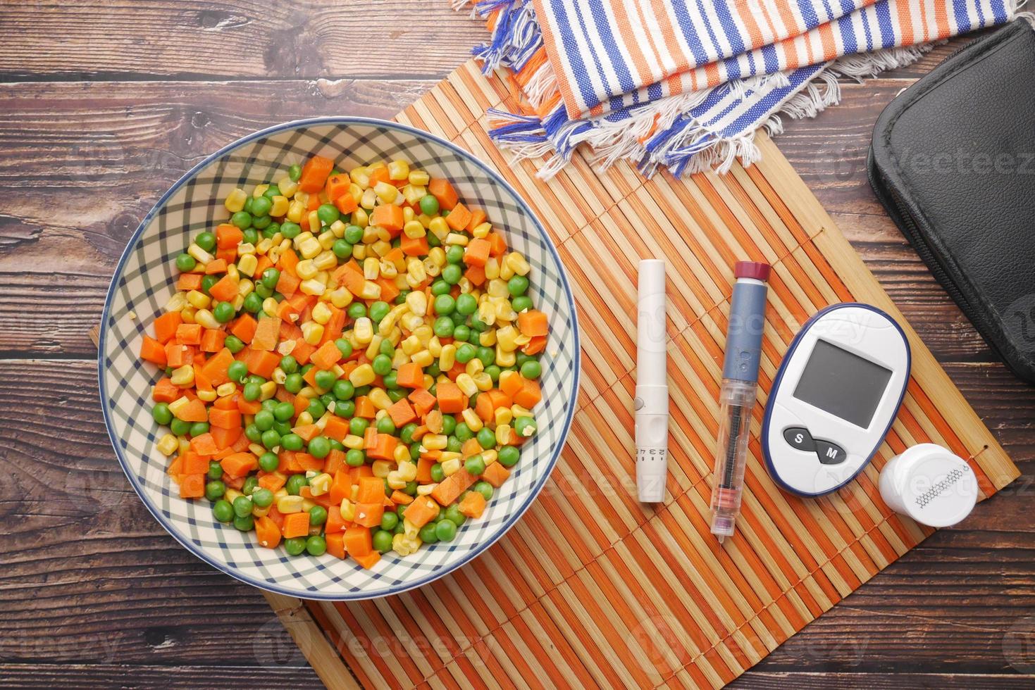
<path fill-rule="evenodd" d="M 834 304 L 809 319 L 766 403 L 762 452 L 773 480 L 805 497 L 851 481 L 891 428 L 909 371 L 906 334 L 877 307 Z"/>

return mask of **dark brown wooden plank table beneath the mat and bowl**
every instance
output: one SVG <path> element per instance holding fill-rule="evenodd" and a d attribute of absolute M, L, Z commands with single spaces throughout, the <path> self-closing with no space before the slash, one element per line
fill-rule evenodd
<path fill-rule="evenodd" d="M 130 234 L 206 154 L 285 120 L 389 117 L 483 29 L 446 0 L 2 6 L 0 686 L 317 687 L 261 594 L 177 546 L 132 493 L 87 333 Z M 844 84 L 840 106 L 776 142 L 1025 475 L 737 687 L 1035 681 L 1035 389 L 996 361 L 865 176 L 881 109 L 953 48 Z"/>

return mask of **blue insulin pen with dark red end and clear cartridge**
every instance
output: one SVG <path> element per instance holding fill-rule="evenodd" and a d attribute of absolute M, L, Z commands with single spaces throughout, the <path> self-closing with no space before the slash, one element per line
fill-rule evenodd
<path fill-rule="evenodd" d="M 730 329 L 719 392 L 718 443 L 715 450 L 715 485 L 711 498 L 711 533 L 719 543 L 733 536 L 740 497 L 744 489 L 747 434 L 751 422 L 766 320 L 766 280 L 769 264 L 739 261 L 730 305 Z"/>

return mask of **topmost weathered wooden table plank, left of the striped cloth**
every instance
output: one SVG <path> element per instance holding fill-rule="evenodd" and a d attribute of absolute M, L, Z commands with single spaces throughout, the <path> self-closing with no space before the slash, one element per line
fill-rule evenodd
<path fill-rule="evenodd" d="M 486 36 L 482 22 L 443 0 L 5 0 L 3 6 L 0 81 L 402 74 L 437 81 Z"/>

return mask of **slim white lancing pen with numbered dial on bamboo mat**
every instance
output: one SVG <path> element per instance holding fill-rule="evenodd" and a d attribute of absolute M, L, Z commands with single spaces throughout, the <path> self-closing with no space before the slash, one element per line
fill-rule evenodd
<path fill-rule="evenodd" d="M 637 492 L 664 501 L 669 475 L 669 377 L 666 372 L 664 262 L 640 262 L 637 309 Z"/>

